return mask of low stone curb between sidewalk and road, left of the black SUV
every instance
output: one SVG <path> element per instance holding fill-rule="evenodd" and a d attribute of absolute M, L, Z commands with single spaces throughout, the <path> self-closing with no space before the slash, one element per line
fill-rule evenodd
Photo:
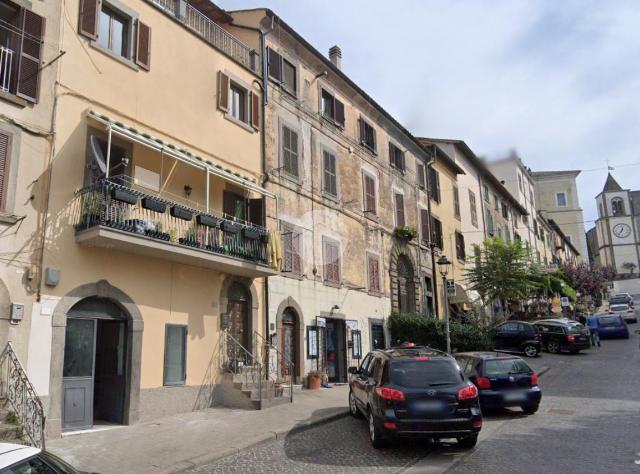
<path fill-rule="evenodd" d="M 340 418 L 345 418 L 347 416 L 349 416 L 349 409 L 345 408 L 344 411 L 319 417 L 315 420 L 298 423 L 289 429 L 284 429 L 279 431 L 268 431 L 263 436 L 256 437 L 252 441 L 246 444 L 243 444 L 242 446 L 233 446 L 233 447 L 229 447 L 228 449 L 225 449 L 222 452 L 212 453 L 212 454 L 203 454 L 202 456 L 192 458 L 188 461 L 187 460 L 179 461 L 175 463 L 173 466 L 171 466 L 170 468 L 162 472 L 164 474 L 184 473 L 190 469 L 195 469 L 204 464 L 209 464 L 209 463 L 219 461 L 220 459 L 226 458 L 228 456 L 233 456 L 235 454 L 239 454 L 243 451 L 247 451 L 249 449 L 261 446 L 263 444 L 268 444 L 272 441 L 282 439 L 290 434 L 300 433 L 310 428 L 315 428 L 320 425 L 331 423 L 332 421 L 338 420 Z"/>

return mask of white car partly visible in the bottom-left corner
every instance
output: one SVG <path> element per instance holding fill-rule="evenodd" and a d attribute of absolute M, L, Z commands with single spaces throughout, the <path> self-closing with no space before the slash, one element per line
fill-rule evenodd
<path fill-rule="evenodd" d="M 0 443 L 0 474 L 79 474 L 57 456 L 31 446 Z"/>

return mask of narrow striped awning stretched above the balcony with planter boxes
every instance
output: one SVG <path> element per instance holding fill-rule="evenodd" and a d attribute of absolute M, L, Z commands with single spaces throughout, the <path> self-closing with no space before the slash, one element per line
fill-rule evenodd
<path fill-rule="evenodd" d="M 185 148 L 181 148 L 165 140 L 161 140 L 160 138 L 154 137 L 149 133 L 127 125 L 120 120 L 110 118 L 95 110 L 89 110 L 87 115 L 93 120 L 96 120 L 111 128 L 111 131 L 113 133 L 116 133 L 117 135 L 136 141 L 141 145 L 153 148 L 157 151 L 161 151 L 162 153 L 172 156 L 173 158 L 184 163 L 190 164 L 197 168 L 201 168 L 203 170 L 208 170 L 212 175 L 218 176 L 219 178 L 224 179 L 225 181 L 228 181 L 230 183 L 237 184 L 238 186 L 242 186 L 251 191 L 255 191 L 259 194 L 262 194 L 263 196 L 275 198 L 275 195 L 272 192 L 267 191 L 265 188 L 260 186 L 254 178 L 243 176 L 242 174 L 232 171 L 229 168 L 225 168 L 218 163 L 213 163 L 210 160 L 204 159 L 201 156 L 191 153 Z"/>

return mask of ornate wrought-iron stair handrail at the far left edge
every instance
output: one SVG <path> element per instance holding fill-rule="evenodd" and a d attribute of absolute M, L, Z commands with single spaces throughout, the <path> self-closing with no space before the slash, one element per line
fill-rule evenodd
<path fill-rule="evenodd" d="M 7 343 L 0 355 L 0 367 L 4 365 L 5 361 L 7 376 L 6 379 L 2 377 L 0 380 L 0 396 L 11 403 L 31 444 L 44 449 L 46 422 L 44 406 L 29 377 L 27 377 L 27 372 L 22 367 L 11 342 Z"/>

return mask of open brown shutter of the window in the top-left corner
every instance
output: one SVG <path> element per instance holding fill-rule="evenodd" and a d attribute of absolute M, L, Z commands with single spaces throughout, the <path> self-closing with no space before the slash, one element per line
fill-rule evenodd
<path fill-rule="evenodd" d="M 30 102 L 38 101 L 38 82 L 42 56 L 44 18 L 22 9 L 22 37 L 16 94 Z"/>

